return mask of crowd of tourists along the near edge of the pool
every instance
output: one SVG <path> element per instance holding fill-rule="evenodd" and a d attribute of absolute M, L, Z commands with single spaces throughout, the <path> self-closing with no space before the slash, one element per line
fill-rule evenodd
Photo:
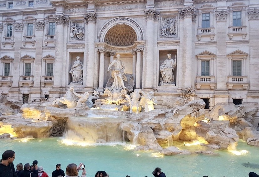
<path fill-rule="evenodd" d="M 26 163 L 25 165 L 19 163 L 16 165 L 15 170 L 13 165 L 14 159 L 14 151 L 4 151 L 4 153 L 2 154 L 2 159 L 0 160 L 0 177 L 49 177 L 48 174 L 43 171 L 43 167 L 38 166 L 37 160 L 34 160 L 32 165 L 30 165 L 29 163 Z M 85 165 L 83 163 L 80 163 L 78 166 L 74 163 L 69 164 L 66 168 L 66 175 L 60 167 L 60 164 L 56 165 L 56 170 L 52 172 L 51 177 L 86 177 Z M 82 170 L 81 176 L 78 174 L 80 170 Z M 155 177 L 166 177 L 165 173 L 163 173 L 158 167 L 155 168 L 155 170 L 153 171 L 153 175 Z M 250 172 L 248 176 L 259 177 L 259 175 L 254 172 Z M 94 177 L 109 177 L 109 175 L 105 171 L 97 171 Z M 130 176 L 127 175 L 126 177 Z"/>

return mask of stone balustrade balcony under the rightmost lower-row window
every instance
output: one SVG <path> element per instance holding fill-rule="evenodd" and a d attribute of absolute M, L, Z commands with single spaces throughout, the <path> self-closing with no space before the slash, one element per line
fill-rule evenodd
<path fill-rule="evenodd" d="M 230 90 L 233 89 L 233 86 L 246 90 L 248 85 L 247 76 L 227 76 L 227 88 Z"/>

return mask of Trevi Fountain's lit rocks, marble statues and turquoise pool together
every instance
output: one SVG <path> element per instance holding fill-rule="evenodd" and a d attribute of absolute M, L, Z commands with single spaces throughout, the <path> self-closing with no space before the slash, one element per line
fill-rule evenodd
<path fill-rule="evenodd" d="M 160 66 L 160 84 L 175 84 L 176 59 Z M 218 103 L 205 110 L 195 92 L 182 89 L 169 109 L 154 109 L 153 91 L 135 89 L 132 74 L 116 55 L 103 91 L 76 92 L 82 82 L 80 57 L 61 98 L 22 104 L 1 97 L 1 152 L 16 151 L 14 163 L 37 159 L 49 175 L 57 163 L 83 162 L 87 175 L 152 176 L 159 166 L 167 176 L 248 176 L 258 172 L 258 127 L 251 123 L 257 104 Z M 191 175 L 190 175 L 191 174 Z"/>

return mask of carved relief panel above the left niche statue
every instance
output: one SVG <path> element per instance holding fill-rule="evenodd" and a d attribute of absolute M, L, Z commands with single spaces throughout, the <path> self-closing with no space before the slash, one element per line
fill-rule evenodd
<path fill-rule="evenodd" d="M 69 33 L 69 41 L 84 41 L 85 36 L 85 22 L 84 20 L 77 20 L 70 22 L 70 33 Z"/>

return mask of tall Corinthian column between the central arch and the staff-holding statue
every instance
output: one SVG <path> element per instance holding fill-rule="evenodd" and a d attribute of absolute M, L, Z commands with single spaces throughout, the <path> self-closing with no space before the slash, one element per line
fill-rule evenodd
<path fill-rule="evenodd" d="M 155 9 L 145 10 L 145 17 L 147 20 L 146 26 L 146 57 L 143 60 L 145 67 L 144 71 L 144 83 L 143 89 L 153 89 L 153 63 L 154 63 L 154 20 L 158 18 L 160 12 L 156 12 Z M 138 76 L 137 76 L 138 77 Z M 137 83 L 136 83 L 137 87 Z"/>

